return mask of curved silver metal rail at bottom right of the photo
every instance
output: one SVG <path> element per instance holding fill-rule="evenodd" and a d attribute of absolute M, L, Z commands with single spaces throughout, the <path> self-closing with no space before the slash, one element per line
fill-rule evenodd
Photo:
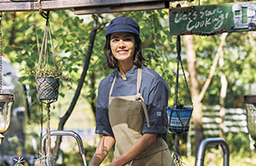
<path fill-rule="evenodd" d="M 222 148 L 222 152 L 224 155 L 224 166 L 230 165 L 230 148 L 229 145 L 225 142 L 222 138 L 207 138 L 205 140 L 201 141 L 201 144 L 199 146 L 197 156 L 195 159 L 195 166 L 203 166 L 204 160 L 205 160 L 205 152 L 207 149 L 207 146 L 212 145 L 220 145 Z"/>

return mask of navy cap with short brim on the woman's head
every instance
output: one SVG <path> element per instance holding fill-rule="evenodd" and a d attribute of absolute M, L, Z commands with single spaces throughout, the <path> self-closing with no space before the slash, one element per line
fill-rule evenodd
<path fill-rule="evenodd" d="M 140 36 L 140 26 L 131 17 L 117 17 L 106 28 L 106 37 L 113 32 L 131 32 Z"/>

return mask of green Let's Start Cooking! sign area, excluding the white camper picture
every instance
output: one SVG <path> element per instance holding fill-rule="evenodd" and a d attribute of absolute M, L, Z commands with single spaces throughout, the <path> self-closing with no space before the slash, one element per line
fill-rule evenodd
<path fill-rule="evenodd" d="M 233 4 L 170 9 L 171 35 L 214 35 L 234 31 Z"/>

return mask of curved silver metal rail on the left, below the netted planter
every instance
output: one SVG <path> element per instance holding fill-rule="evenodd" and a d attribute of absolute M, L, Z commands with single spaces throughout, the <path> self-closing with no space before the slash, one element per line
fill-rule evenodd
<path fill-rule="evenodd" d="M 72 130 L 52 130 L 52 131 L 50 131 L 50 136 L 52 136 L 52 135 L 70 135 L 70 136 L 73 136 L 73 138 L 75 138 L 78 142 L 79 152 L 81 153 L 81 156 L 83 158 L 84 166 L 87 166 L 86 160 L 85 160 L 85 151 L 84 151 L 83 141 L 82 141 L 79 134 L 77 134 L 76 132 L 74 132 Z M 44 152 L 44 144 L 45 144 L 46 136 L 47 135 L 44 135 L 42 140 L 41 140 L 41 153 Z"/>

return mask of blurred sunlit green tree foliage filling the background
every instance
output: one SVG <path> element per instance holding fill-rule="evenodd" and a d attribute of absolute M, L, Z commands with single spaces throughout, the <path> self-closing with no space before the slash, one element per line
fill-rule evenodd
<path fill-rule="evenodd" d="M 197 5 L 195 1 L 191 5 Z M 234 3 L 233 1 L 202 1 L 201 4 L 217 4 L 217 3 Z M 177 50 L 176 37 L 169 35 L 169 14 L 168 9 L 163 10 L 147 10 L 137 12 L 126 12 L 116 14 L 100 14 L 99 25 L 103 25 L 96 34 L 93 54 L 90 59 L 90 68 L 88 77 L 84 80 L 83 92 L 79 100 L 81 103 L 76 106 L 76 111 L 72 115 L 73 121 L 88 121 L 84 126 L 79 123 L 71 123 L 69 120 L 67 128 L 94 128 L 93 109 L 96 105 L 97 86 L 103 77 L 106 77 L 112 70 L 103 68 L 105 57 L 103 54 L 103 46 L 105 43 L 104 25 L 113 17 L 123 15 L 130 16 L 135 19 L 141 26 L 141 38 L 143 41 L 143 54 L 149 60 L 148 67 L 154 69 L 162 76 L 169 85 L 170 100 L 169 105 L 173 103 L 173 95 L 175 89 L 175 73 L 177 68 Z M 22 20 L 22 21 L 21 21 Z M 73 90 L 67 91 L 65 81 L 61 84 L 61 104 L 56 103 L 52 106 L 51 112 L 51 128 L 55 129 L 58 123 L 58 118 L 61 117 L 67 110 L 68 103 L 73 97 L 76 83 L 79 82 L 79 77 L 84 64 L 84 57 L 88 48 L 90 39 L 91 26 L 93 24 L 91 15 L 77 16 L 73 15 L 71 10 L 60 10 L 50 12 L 49 22 L 52 30 L 55 54 L 57 60 L 65 66 L 64 72 L 70 77 L 73 77 Z M 33 135 L 39 142 L 40 135 L 44 130 L 46 122 L 46 112 L 44 107 L 40 105 L 36 97 L 35 79 L 31 72 L 38 66 L 38 42 L 42 41 L 45 20 L 38 12 L 15 12 L 4 13 L 2 22 L 3 32 L 3 56 L 7 57 L 15 68 L 20 72 L 20 83 L 26 83 L 30 86 L 29 95 L 32 96 L 30 105 L 30 117 L 26 126 L 26 135 Z M 227 37 L 224 46 L 224 74 L 228 80 L 227 97 L 225 98 L 225 107 L 243 107 L 242 96 L 244 94 L 255 93 L 254 77 L 255 72 L 255 31 L 230 33 Z M 41 43 L 40 43 L 41 44 Z M 183 43 L 182 43 L 183 44 Z M 194 37 L 196 50 L 196 68 L 198 69 L 198 77 L 201 83 L 205 83 L 208 72 L 212 66 L 212 60 L 217 53 L 219 38 L 218 35 L 211 37 Z M 49 46 L 50 47 L 50 46 Z M 186 68 L 186 54 L 182 49 L 182 60 L 184 69 Z M 219 104 L 219 91 L 221 84 L 219 83 L 219 70 L 214 74 L 211 85 L 207 89 L 202 103 L 205 106 Z M 189 96 L 183 82 L 183 76 L 180 76 L 179 96 L 183 99 L 185 105 L 189 101 Z M 63 102 L 62 102 L 63 101 Z M 82 104 L 83 103 L 83 104 Z M 86 104 L 84 104 L 86 103 Z M 66 106 L 67 105 L 67 106 Z M 86 106 L 85 106 L 86 105 Z M 79 110 L 79 111 L 78 111 Z M 43 113 L 43 116 L 42 116 Z M 83 114 L 82 119 L 76 119 L 75 116 Z M 42 126 L 43 124 L 43 126 Z M 37 128 L 35 128 L 37 126 Z M 253 153 L 249 147 L 249 138 L 247 134 L 227 133 L 226 141 L 230 145 L 231 157 L 230 161 L 241 162 L 241 165 L 252 165 Z M 181 140 L 181 149 L 183 154 L 186 154 L 186 134 Z M 173 152 L 172 146 L 174 143 L 174 135 L 169 133 L 167 143 Z M 86 144 L 86 143 L 85 143 Z M 39 144 L 38 144 L 39 146 Z M 27 146 L 27 152 L 30 151 L 30 146 Z M 216 152 L 211 149 L 208 152 L 213 153 L 217 158 L 218 147 L 215 147 Z M 95 151 L 95 146 L 86 146 L 86 158 L 90 161 L 90 157 Z M 195 154 L 193 154 L 195 155 Z M 237 159 L 239 156 L 239 160 Z M 63 157 L 66 163 L 77 163 L 79 154 L 73 152 L 63 152 Z M 112 160 L 111 155 L 106 159 L 106 163 Z M 241 157 L 241 159 L 240 159 Z M 247 159 L 249 158 L 249 159 Z M 195 158 L 184 158 L 185 163 L 195 163 Z M 187 161 L 187 162 L 186 162 Z M 219 161 L 218 159 L 215 160 Z M 191 164 L 192 165 L 192 164 Z M 218 164 L 216 164 L 218 165 Z M 232 165 L 232 164 L 231 164 Z"/>

